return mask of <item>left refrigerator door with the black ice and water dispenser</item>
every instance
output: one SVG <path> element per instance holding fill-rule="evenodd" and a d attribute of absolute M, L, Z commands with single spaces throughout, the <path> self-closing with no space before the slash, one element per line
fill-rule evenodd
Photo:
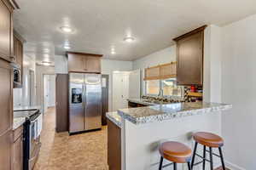
<path fill-rule="evenodd" d="M 84 130 L 84 74 L 69 74 L 69 132 Z"/>

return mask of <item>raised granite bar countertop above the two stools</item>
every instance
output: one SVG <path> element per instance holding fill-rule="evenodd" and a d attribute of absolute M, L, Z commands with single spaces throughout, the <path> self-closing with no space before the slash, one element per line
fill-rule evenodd
<path fill-rule="evenodd" d="M 135 124 L 148 122 L 162 122 L 173 118 L 207 114 L 214 111 L 224 111 L 232 108 L 232 105 L 207 103 L 207 102 L 183 102 L 166 105 L 152 105 L 147 107 L 120 109 L 118 114 Z"/>

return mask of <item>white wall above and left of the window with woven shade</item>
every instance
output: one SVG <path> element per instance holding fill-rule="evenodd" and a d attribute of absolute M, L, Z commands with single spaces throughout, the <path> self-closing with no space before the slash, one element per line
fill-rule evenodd
<path fill-rule="evenodd" d="M 153 54 L 149 54 L 141 59 L 136 59 L 133 61 L 133 70 L 140 69 L 141 74 L 141 94 L 145 93 L 144 85 L 144 69 L 154 65 L 161 65 L 170 63 L 177 60 L 176 45 L 172 45 L 169 48 L 164 48 Z"/>

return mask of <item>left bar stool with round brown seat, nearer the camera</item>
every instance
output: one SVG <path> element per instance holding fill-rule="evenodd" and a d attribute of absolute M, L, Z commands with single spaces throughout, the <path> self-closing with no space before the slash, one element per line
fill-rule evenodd
<path fill-rule="evenodd" d="M 168 167 L 173 164 L 173 169 L 177 170 L 177 163 L 187 163 L 190 170 L 190 163 L 192 150 L 185 144 L 179 142 L 165 142 L 160 144 L 160 166 L 159 170 L 163 167 Z M 164 158 L 172 163 L 163 166 Z"/>

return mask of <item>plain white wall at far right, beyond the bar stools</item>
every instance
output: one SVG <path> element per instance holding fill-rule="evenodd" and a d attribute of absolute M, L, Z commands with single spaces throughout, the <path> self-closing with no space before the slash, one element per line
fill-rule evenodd
<path fill-rule="evenodd" d="M 222 101 L 233 105 L 230 114 L 222 116 L 224 156 L 247 170 L 256 169 L 255 32 L 256 15 L 222 30 Z"/>

